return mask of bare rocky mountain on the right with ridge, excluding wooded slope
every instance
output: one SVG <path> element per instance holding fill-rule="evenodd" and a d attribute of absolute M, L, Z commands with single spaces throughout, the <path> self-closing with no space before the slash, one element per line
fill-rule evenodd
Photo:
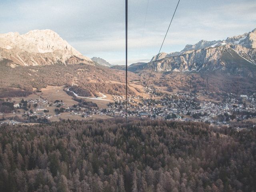
<path fill-rule="evenodd" d="M 145 66 L 151 69 L 156 56 Z M 138 71 L 142 66 L 138 66 Z M 255 76 L 256 72 L 256 29 L 226 40 L 205 41 L 186 45 L 180 52 L 160 53 L 154 66 L 155 71 L 210 72 L 226 71 L 236 76 Z M 133 69 L 133 71 L 136 71 Z"/>

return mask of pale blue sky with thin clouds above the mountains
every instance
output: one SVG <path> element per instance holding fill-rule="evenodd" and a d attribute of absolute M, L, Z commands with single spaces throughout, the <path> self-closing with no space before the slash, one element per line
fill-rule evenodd
<path fill-rule="evenodd" d="M 128 64 L 158 53 L 177 3 L 128 0 Z M 125 0 L 1 0 L 0 10 L 0 33 L 51 29 L 85 56 L 125 64 Z M 180 0 L 162 52 L 250 32 L 255 10 L 255 0 Z"/>

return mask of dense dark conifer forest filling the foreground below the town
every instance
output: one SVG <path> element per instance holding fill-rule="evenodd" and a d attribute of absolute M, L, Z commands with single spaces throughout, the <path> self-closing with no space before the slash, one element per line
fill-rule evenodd
<path fill-rule="evenodd" d="M 0 191 L 252 192 L 255 130 L 124 119 L 0 127 Z"/>

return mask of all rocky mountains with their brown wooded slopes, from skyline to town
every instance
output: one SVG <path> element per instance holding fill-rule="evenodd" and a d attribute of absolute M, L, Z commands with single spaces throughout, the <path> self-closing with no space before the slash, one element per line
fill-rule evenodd
<path fill-rule="evenodd" d="M 144 84 L 153 64 L 154 58 L 148 63 L 131 64 L 128 70 L 137 74 L 129 73 L 129 78 Z M 52 30 L 0 34 L 0 65 L 2 88 L 32 91 L 33 87 L 76 83 L 91 95 L 96 95 L 96 90 L 111 94 L 124 91 L 124 85 L 116 82 L 125 82 L 120 71 L 125 66 L 83 56 Z M 30 71 L 16 66 L 29 66 Z M 161 53 L 149 83 L 187 91 L 256 92 L 256 29 L 226 40 L 201 40 L 180 52 Z"/>

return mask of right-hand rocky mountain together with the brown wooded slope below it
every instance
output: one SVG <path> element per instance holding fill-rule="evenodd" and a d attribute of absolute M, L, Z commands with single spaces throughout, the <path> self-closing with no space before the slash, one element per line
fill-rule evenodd
<path fill-rule="evenodd" d="M 170 90 L 256 92 L 256 29 L 222 41 L 201 40 L 180 52 L 160 53 L 156 63 L 155 59 L 131 64 L 128 70 Z M 125 70 L 125 66 L 112 68 Z M 152 68 L 152 78 L 148 79 Z"/>

